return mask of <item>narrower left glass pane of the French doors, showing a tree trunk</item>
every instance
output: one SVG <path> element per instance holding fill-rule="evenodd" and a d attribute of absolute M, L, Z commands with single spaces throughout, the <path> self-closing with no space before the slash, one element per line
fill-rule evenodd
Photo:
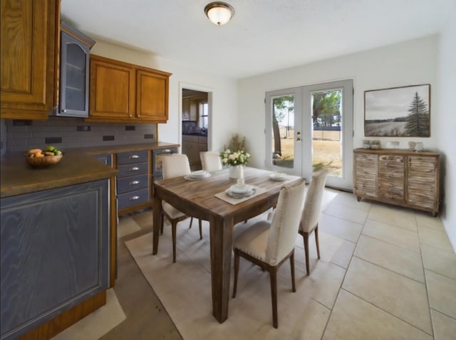
<path fill-rule="evenodd" d="M 272 98 L 272 164 L 294 167 L 294 95 Z"/>

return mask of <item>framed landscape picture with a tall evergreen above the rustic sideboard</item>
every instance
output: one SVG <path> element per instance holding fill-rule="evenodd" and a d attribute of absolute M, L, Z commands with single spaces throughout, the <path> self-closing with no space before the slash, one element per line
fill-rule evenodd
<path fill-rule="evenodd" d="M 430 84 L 364 91 L 366 137 L 430 137 Z"/>

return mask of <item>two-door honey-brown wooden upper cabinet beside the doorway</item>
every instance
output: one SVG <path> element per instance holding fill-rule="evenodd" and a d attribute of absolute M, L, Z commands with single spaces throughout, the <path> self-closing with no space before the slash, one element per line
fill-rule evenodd
<path fill-rule="evenodd" d="M 88 121 L 167 122 L 170 73 L 90 55 Z"/>

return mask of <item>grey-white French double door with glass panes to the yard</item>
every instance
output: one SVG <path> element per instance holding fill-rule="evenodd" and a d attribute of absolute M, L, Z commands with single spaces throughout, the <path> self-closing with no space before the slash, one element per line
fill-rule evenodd
<path fill-rule="evenodd" d="M 353 189 L 353 80 L 266 92 L 266 168 Z"/>

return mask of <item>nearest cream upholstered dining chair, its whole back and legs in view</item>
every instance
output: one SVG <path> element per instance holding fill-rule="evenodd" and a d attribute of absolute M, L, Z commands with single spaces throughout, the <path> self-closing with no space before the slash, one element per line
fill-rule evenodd
<path fill-rule="evenodd" d="M 277 316 L 277 270 L 290 259 L 291 289 L 296 292 L 294 280 L 294 243 L 298 234 L 299 221 L 304 203 L 306 182 L 301 179 L 294 185 L 285 185 L 279 193 L 276 210 L 271 221 L 259 221 L 239 233 L 233 240 L 234 287 L 236 297 L 239 257 L 259 265 L 269 272 L 271 282 L 272 324 L 279 326 Z"/>

